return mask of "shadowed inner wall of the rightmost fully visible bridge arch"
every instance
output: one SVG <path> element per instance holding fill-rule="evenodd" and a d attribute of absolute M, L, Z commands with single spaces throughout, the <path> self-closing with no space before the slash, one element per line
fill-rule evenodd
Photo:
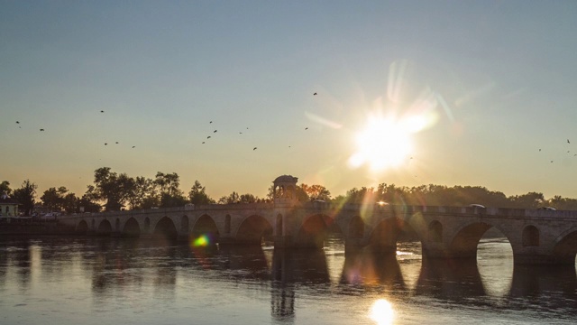
<path fill-rule="evenodd" d="M 448 246 L 448 255 L 453 258 L 476 258 L 477 257 L 477 246 L 481 241 L 481 237 L 490 228 L 496 228 L 499 230 L 504 237 L 507 237 L 509 245 L 511 243 L 507 232 L 499 228 L 499 226 L 492 225 L 488 222 L 475 221 L 464 224 L 461 228 L 453 233 Z"/>

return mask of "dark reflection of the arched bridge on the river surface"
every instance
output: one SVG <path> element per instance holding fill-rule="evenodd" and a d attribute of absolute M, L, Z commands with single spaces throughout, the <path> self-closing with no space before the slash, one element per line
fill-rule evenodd
<path fill-rule="evenodd" d="M 42 268 L 43 282 L 58 283 L 60 280 L 56 278 L 70 274 L 67 264 L 74 261 L 79 267 L 76 274 L 91 274 L 96 307 L 114 296 L 114 292 L 138 293 L 138 288 L 147 283 L 156 288 L 155 295 L 177 302 L 175 292 L 179 285 L 208 279 L 269 291 L 270 313 L 276 322 L 295 321 L 302 292 L 321 298 L 326 294 L 356 296 L 372 292 L 393 304 L 404 299 L 432 297 L 435 301 L 503 312 L 521 311 L 529 305 L 535 311 L 563 311 L 577 317 L 574 265 L 515 265 L 512 274 L 484 274 L 480 273 L 476 259 L 458 262 L 421 259 L 420 247 L 412 246 L 414 243 L 408 243 L 413 253 L 408 259 L 408 255 L 382 255 L 370 250 L 344 254 L 342 243 L 325 249 L 302 250 L 272 246 L 191 247 L 94 237 L 54 238 L 49 243 L 42 246 L 29 241 L 12 242 L 10 246 L 15 248 L 0 254 L 0 264 L 17 267 L 16 278 L 27 287 L 38 267 Z M 400 247 L 402 250 L 405 246 Z M 63 256 L 67 260 L 50 266 L 43 263 Z M 510 256 L 496 263 L 513 265 Z M 512 277 L 502 295 L 496 296 L 488 290 L 491 285 L 486 280 L 488 275 Z M 0 283 L 6 282 L 5 276 L 0 273 Z"/>

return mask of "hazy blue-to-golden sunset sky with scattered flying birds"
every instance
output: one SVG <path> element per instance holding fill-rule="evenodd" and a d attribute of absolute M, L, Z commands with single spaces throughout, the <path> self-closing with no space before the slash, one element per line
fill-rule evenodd
<path fill-rule="evenodd" d="M 394 183 L 577 198 L 574 1 L 0 7 L 13 189 L 81 196 L 110 167 L 177 172 L 215 200 L 264 197 L 283 174 L 333 196 Z"/>

